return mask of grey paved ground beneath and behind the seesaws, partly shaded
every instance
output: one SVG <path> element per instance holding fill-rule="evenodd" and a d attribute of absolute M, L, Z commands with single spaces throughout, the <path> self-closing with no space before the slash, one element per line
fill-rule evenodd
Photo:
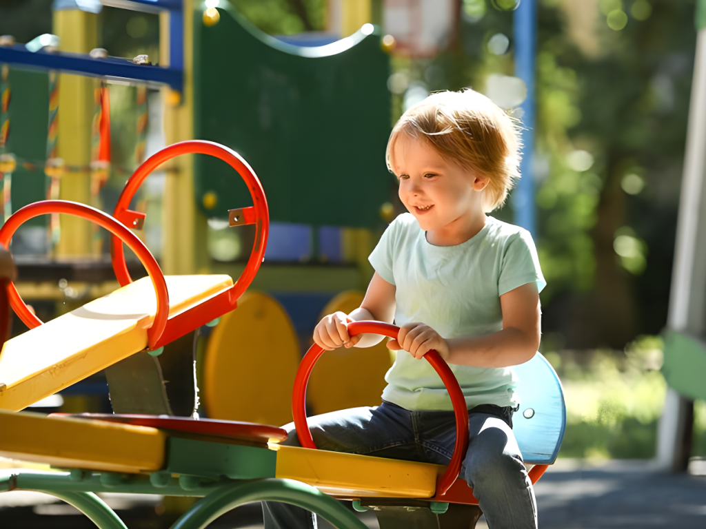
<path fill-rule="evenodd" d="M 693 466 L 702 475 L 660 474 L 641 461 L 589 464 L 560 460 L 539 480 L 535 491 L 541 529 L 706 528 L 706 466 Z M 166 529 L 160 497 L 112 494 L 107 503 L 129 529 Z M 258 504 L 223 516 L 209 529 L 261 529 Z M 371 513 L 362 515 L 371 529 Z M 0 494 L 0 527 L 22 529 L 95 528 L 66 504 L 33 492 Z M 330 525 L 321 523 L 321 529 Z M 481 518 L 477 529 L 486 529 Z"/>

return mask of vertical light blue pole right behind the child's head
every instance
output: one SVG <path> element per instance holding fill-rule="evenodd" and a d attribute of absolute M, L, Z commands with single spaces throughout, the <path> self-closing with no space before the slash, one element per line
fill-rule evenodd
<path fill-rule="evenodd" d="M 522 0 L 514 14 L 515 76 L 525 81 L 527 99 L 522 103 L 522 178 L 513 191 L 515 224 L 537 238 L 537 212 L 534 202 L 534 65 L 537 55 L 537 0 Z"/>

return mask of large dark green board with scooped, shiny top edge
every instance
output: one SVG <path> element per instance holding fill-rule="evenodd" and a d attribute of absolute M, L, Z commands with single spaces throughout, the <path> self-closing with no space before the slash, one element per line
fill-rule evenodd
<path fill-rule="evenodd" d="M 376 226 L 394 181 L 385 167 L 390 135 L 390 57 L 378 30 L 327 47 L 280 42 L 219 9 L 207 28 L 196 13 L 198 139 L 239 152 L 263 183 L 274 221 Z M 207 217 L 251 205 L 225 163 L 195 161 L 196 202 Z M 213 192 L 217 204 L 203 205 Z"/>

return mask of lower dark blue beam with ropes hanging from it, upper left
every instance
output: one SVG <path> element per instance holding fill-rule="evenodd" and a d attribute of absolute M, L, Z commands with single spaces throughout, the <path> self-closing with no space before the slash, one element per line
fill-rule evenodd
<path fill-rule="evenodd" d="M 181 92 L 183 87 L 180 68 L 162 68 L 160 66 L 143 66 L 133 64 L 127 59 L 92 59 L 88 55 L 69 54 L 65 52 L 47 53 L 40 50 L 35 53 L 28 51 L 23 44 L 13 47 L 0 47 L 0 63 L 58 70 L 67 73 L 78 73 L 114 80 L 134 81 L 136 83 L 152 83 L 169 85 Z"/>

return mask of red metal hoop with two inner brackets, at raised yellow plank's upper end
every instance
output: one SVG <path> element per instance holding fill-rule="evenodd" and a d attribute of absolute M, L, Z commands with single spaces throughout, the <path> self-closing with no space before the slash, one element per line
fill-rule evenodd
<path fill-rule="evenodd" d="M 232 286 L 230 297 L 234 303 L 244 293 L 258 273 L 258 269 L 263 262 L 263 256 L 265 255 L 265 246 L 267 245 L 267 237 L 270 229 L 270 213 L 263 186 L 256 176 L 255 171 L 253 171 L 251 166 L 249 166 L 237 152 L 218 143 L 204 140 L 189 140 L 164 147 L 164 149 L 146 159 L 128 179 L 118 199 L 118 203 L 115 206 L 113 216 L 119 221 L 124 222 L 127 226 L 138 226 L 138 222 L 140 219 L 144 218 L 144 214 L 128 209 L 128 207 L 130 207 L 130 201 L 140 185 L 145 181 L 145 178 L 147 178 L 152 171 L 164 164 L 164 162 L 180 156 L 181 154 L 208 154 L 222 159 L 243 178 L 250 191 L 250 196 L 253 199 L 254 215 L 246 224 L 256 225 L 255 243 L 253 244 L 253 251 L 250 253 L 250 258 L 245 265 L 243 273 L 234 286 Z M 110 253 L 118 282 L 122 286 L 131 283 L 132 278 L 130 277 L 125 262 L 123 246 L 116 237 L 112 238 Z"/>

